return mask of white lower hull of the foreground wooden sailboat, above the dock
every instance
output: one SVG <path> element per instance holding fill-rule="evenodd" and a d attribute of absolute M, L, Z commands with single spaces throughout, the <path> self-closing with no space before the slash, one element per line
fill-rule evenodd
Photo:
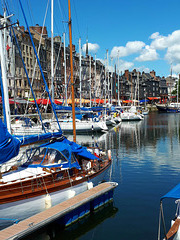
<path fill-rule="evenodd" d="M 96 186 L 103 179 L 108 169 L 97 175 L 90 180 L 93 186 Z M 59 204 L 77 194 L 80 194 L 88 190 L 89 182 L 83 182 L 76 186 L 69 187 L 57 192 L 50 193 L 52 200 L 52 206 Z M 0 205 L 0 228 L 6 227 L 13 223 L 13 220 L 23 220 L 34 214 L 44 211 L 45 208 L 45 195 L 41 195 L 34 198 L 29 198 L 26 200 L 20 200 L 12 203 L 1 204 Z M 2 219 L 3 218 L 3 219 Z M 5 220 L 6 219 L 6 220 Z"/>

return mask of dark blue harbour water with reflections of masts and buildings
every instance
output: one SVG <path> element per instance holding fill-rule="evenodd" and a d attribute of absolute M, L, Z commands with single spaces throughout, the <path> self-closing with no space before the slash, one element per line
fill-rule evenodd
<path fill-rule="evenodd" d="M 33 239 L 157 239 L 160 198 L 180 181 L 179 129 L 180 114 L 150 113 L 101 136 L 113 159 L 106 180 L 118 183 L 113 204 L 66 230 L 51 225 Z M 167 229 L 175 207 L 174 200 L 164 201 Z"/>

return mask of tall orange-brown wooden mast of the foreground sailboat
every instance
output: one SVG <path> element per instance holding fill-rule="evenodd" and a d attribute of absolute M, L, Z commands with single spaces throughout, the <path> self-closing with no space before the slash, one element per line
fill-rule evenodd
<path fill-rule="evenodd" d="M 72 57 L 72 31 L 71 31 L 71 3 L 70 3 L 70 0 L 68 0 L 68 8 L 69 8 L 69 45 L 70 45 L 70 67 L 71 67 L 73 141 L 76 142 L 75 98 L 74 98 L 73 57 Z"/>

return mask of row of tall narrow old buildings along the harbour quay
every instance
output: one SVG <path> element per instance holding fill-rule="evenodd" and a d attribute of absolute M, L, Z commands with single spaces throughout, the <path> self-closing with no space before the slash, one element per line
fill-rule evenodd
<path fill-rule="evenodd" d="M 51 89 L 51 38 L 48 37 L 46 27 L 39 25 L 30 27 L 33 41 L 38 52 L 42 71 L 45 76 L 49 89 Z M 23 61 L 27 73 L 32 82 L 36 98 L 46 98 L 42 76 L 39 66 L 36 62 L 36 56 L 30 41 L 28 31 L 23 27 L 15 28 L 15 35 L 21 49 Z M 23 67 L 22 59 L 18 47 L 15 43 L 15 37 L 6 29 L 4 37 L 6 43 L 5 57 L 7 64 L 8 89 L 10 97 L 27 98 L 30 92 L 30 86 Z M 88 46 L 88 44 L 87 44 Z M 54 37 L 53 46 L 54 63 L 54 97 L 63 99 L 65 97 L 65 88 L 67 88 L 68 97 L 71 97 L 70 88 L 70 51 L 69 46 L 65 46 L 60 36 Z M 177 79 L 172 76 L 165 78 L 156 76 L 155 71 L 150 73 L 125 70 L 118 76 L 116 66 L 114 72 L 108 71 L 107 67 L 100 61 L 88 54 L 81 56 L 79 49 L 73 45 L 73 76 L 75 97 L 79 98 L 80 89 L 82 98 L 110 98 L 127 100 L 138 97 L 145 98 L 163 98 L 167 97 L 169 92 L 175 86 Z M 81 79 L 80 79 L 81 69 Z M 66 74 L 65 74 L 66 70 Z M 120 71 L 119 71 L 120 72 Z M 108 75 L 109 74 L 109 75 Z M 66 79 L 65 79 L 66 77 Z M 81 85 L 81 88 L 80 88 Z M 31 95 L 30 95 L 31 97 Z"/>

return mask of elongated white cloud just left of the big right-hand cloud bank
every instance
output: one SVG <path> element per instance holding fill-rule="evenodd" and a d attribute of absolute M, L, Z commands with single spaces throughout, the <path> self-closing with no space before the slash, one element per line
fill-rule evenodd
<path fill-rule="evenodd" d="M 146 44 L 144 42 L 141 41 L 132 41 L 132 42 L 127 42 L 126 46 L 115 46 L 113 47 L 112 51 L 111 51 L 111 57 L 117 58 L 119 57 L 125 57 L 125 56 L 129 56 L 131 54 L 134 53 L 138 53 L 142 50 L 142 48 L 145 46 Z"/>

